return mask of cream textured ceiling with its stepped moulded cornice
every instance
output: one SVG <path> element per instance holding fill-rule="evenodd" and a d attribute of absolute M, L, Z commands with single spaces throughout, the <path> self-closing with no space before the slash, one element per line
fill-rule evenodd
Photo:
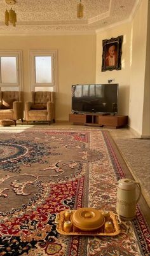
<path fill-rule="evenodd" d="M 1 1 L 0 0 L 0 4 Z M 39 18 L 37 10 L 40 11 L 40 3 L 57 3 L 56 0 L 39 0 L 38 6 L 35 4 L 37 3 L 36 0 L 18 0 L 15 6 L 17 6 L 17 16 L 18 14 L 22 15 L 24 11 L 29 11 L 30 15 L 33 13 L 34 9 L 33 6 L 35 5 L 38 9 L 35 10 L 33 13 L 33 18 L 27 18 L 27 13 L 25 13 L 25 17 L 18 18 L 17 26 L 8 26 L 4 25 L 4 22 L 1 21 L 0 16 L 0 36 L 33 36 L 33 35 L 85 35 L 85 34 L 97 34 L 100 31 L 106 31 L 107 29 L 111 29 L 113 27 L 116 27 L 121 24 L 125 24 L 126 22 L 130 22 L 133 18 L 133 15 L 135 15 L 135 12 L 137 11 L 137 8 L 139 7 L 142 0 L 83 0 L 83 4 L 85 5 L 85 17 L 83 19 L 73 18 L 74 14 L 70 13 L 69 17 L 71 19 L 66 18 L 65 20 L 61 20 L 62 17 L 65 18 L 65 16 L 62 16 L 61 18 L 55 18 L 55 16 L 51 17 L 51 19 L 48 19 L 48 13 L 50 13 L 50 6 L 48 6 L 48 12 L 46 11 L 46 6 L 43 6 L 43 15 L 45 16 L 44 20 L 41 20 Z M 58 3 L 64 3 L 65 0 L 60 0 Z M 21 4 L 20 4 L 21 3 Z M 29 3 L 29 10 L 27 9 L 27 4 Z M 67 2 L 68 3 L 68 2 Z M 76 3 L 76 0 L 72 0 L 71 6 L 69 8 L 72 8 L 74 10 L 74 4 Z M 99 6 L 100 3 L 100 6 Z M 22 9 L 21 6 L 24 6 Z M 32 6 L 33 4 L 33 6 Z M 73 5 L 72 5 L 73 4 Z M 96 5 L 95 5 L 96 4 Z M 43 4 L 44 5 L 44 4 Z M 91 10 L 87 9 L 90 5 Z M 107 6 L 107 8 L 106 8 Z M 132 6 L 132 7 L 131 7 Z M 55 6 L 53 6 L 54 8 Z M 60 6 L 59 6 L 60 7 Z M 96 7 L 98 10 L 95 11 Z M 103 11 L 100 13 L 100 8 L 102 8 Z M 3 6 L 3 9 L 5 7 Z M 55 11 L 57 11 L 57 8 L 54 8 Z M 106 10 L 106 11 L 104 11 Z M 65 8 L 62 10 L 65 11 Z M 126 17 L 127 13 L 129 12 L 130 15 Z M 95 15 L 91 15 L 90 13 L 95 13 Z M 96 15 L 98 13 L 98 15 Z M 99 14 L 100 13 L 100 14 Z M 4 13 L 3 13 L 4 14 Z M 122 15 L 124 15 L 123 20 L 120 20 Z M 0 11 L 1 15 L 1 11 Z M 41 15 L 41 13 L 40 13 Z M 63 14 L 64 15 L 64 14 Z M 67 15 L 67 13 L 66 13 Z M 86 17 L 87 15 L 87 17 Z M 119 18 L 118 18 L 119 15 Z M 22 15 L 24 16 L 24 15 Z M 116 20 L 119 20 L 116 22 Z"/>

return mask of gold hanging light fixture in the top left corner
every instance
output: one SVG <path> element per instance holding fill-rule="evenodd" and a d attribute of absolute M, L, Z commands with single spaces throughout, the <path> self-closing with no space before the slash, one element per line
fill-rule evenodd
<path fill-rule="evenodd" d="M 5 0 L 6 4 L 15 4 L 16 1 L 15 0 Z M 5 25 L 9 25 L 9 22 L 11 24 L 13 24 L 13 26 L 16 26 L 16 22 L 17 22 L 17 13 L 15 13 L 15 11 L 11 8 L 9 11 L 6 10 L 5 11 Z"/>

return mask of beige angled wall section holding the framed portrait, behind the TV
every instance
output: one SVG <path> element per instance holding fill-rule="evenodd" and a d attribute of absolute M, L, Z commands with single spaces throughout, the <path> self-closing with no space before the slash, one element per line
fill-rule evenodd
<path fill-rule="evenodd" d="M 121 70 L 102 72 L 102 40 L 116 38 L 123 35 Z M 129 92 L 130 92 L 130 24 L 121 24 L 117 27 L 97 32 L 97 59 L 96 59 L 96 82 L 108 83 L 111 78 L 113 83 L 119 83 L 118 113 L 128 115 Z"/>

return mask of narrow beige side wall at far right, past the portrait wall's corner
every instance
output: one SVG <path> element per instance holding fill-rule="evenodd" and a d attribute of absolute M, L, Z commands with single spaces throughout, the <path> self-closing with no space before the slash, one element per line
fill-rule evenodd
<path fill-rule="evenodd" d="M 132 65 L 130 70 L 130 126 L 142 134 L 146 72 L 147 0 L 143 0 L 132 22 Z M 149 131 L 150 132 L 150 131 Z M 150 134 L 147 134 L 150 135 Z"/>

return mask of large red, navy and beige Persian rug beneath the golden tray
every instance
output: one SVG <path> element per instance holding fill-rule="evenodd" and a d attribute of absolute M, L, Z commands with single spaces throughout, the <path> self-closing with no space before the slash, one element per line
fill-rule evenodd
<path fill-rule="evenodd" d="M 0 159 L 0 255 L 150 255 L 150 230 L 140 206 L 115 237 L 56 231 L 62 210 L 116 211 L 116 185 L 126 165 L 107 131 L 1 133 Z"/>

